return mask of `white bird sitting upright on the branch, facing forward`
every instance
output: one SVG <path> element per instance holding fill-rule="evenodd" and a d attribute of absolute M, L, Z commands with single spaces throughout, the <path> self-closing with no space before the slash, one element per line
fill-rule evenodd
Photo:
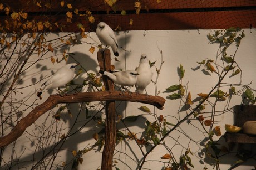
<path fill-rule="evenodd" d="M 136 68 L 136 71 L 137 73 L 139 73 L 139 75 L 137 76 L 137 83 L 135 84 L 136 91 L 140 94 L 143 94 L 144 90 L 146 91 L 146 86 L 150 84 L 153 76 L 152 70 L 149 65 L 149 59 L 147 59 L 146 54 L 141 54 L 140 64 Z"/>

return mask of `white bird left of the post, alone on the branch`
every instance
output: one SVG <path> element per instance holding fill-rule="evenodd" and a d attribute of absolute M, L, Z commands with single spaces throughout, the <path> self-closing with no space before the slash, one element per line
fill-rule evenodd
<path fill-rule="evenodd" d="M 56 73 L 51 76 L 50 79 L 48 79 L 45 83 L 42 84 L 42 86 L 44 87 L 41 89 L 41 92 L 37 94 L 37 96 L 40 97 L 42 91 L 45 89 L 56 89 L 57 87 L 64 86 L 68 82 L 70 82 L 75 76 L 75 68 L 77 65 L 80 64 L 71 63 L 58 69 Z"/>

